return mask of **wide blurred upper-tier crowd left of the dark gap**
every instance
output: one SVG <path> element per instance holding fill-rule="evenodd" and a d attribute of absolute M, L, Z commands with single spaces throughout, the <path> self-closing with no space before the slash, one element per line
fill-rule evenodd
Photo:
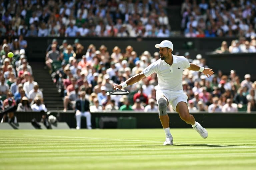
<path fill-rule="evenodd" d="M 169 37 L 166 0 L 10 0 L 0 6 L 0 35 Z"/>

